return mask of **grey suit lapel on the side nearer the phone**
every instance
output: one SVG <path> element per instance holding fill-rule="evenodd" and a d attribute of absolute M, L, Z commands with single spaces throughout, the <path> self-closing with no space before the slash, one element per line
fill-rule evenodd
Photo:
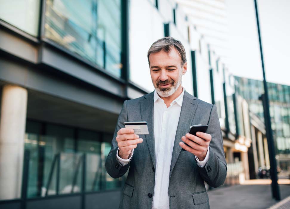
<path fill-rule="evenodd" d="M 196 108 L 198 106 L 196 102 L 196 97 L 190 95 L 186 91 L 184 92 L 183 102 L 181 106 L 181 112 L 179 116 L 178 126 L 175 135 L 175 141 L 172 151 L 172 159 L 170 165 L 170 173 L 169 173 L 169 180 L 172 174 L 172 170 L 176 164 L 178 156 L 181 151 L 181 146 L 179 142 L 182 142 L 181 137 L 184 136 L 189 131 L 189 127 L 192 124 L 193 117 L 195 115 Z"/>

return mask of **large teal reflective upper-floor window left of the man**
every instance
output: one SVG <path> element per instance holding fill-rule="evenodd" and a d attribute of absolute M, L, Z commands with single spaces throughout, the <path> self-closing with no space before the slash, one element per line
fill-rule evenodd
<path fill-rule="evenodd" d="M 44 36 L 121 77 L 121 1 L 47 0 Z"/>

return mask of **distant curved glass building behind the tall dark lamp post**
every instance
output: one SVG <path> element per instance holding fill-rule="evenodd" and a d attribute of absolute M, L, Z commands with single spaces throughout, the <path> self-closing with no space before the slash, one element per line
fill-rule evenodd
<path fill-rule="evenodd" d="M 263 104 L 259 96 L 264 93 L 263 81 L 235 77 L 236 92 L 247 100 L 251 112 L 264 120 Z M 267 83 L 270 116 L 280 175 L 290 174 L 290 86 Z"/>

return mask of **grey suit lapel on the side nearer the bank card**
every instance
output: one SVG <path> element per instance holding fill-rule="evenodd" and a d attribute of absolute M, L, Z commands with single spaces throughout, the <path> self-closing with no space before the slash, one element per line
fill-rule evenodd
<path fill-rule="evenodd" d="M 144 96 L 144 99 L 140 101 L 141 108 L 141 118 L 143 121 L 147 122 L 149 134 L 145 135 L 146 142 L 148 145 L 149 153 L 153 162 L 154 167 L 156 167 L 155 162 L 155 138 L 154 138 L 154 92 Z"/>

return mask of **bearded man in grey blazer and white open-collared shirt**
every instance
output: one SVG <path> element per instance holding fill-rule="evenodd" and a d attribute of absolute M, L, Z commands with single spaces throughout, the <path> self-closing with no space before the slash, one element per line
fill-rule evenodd
<path fill-rule="evenodd" d="M 105 163 L 113 178 L 129 168 L 119 208 L 209 208 L 204 181 L 218 187 L 227 171 L 216 106 L 181 86 L 187 63 L 180 41 L 154 42 L 148 61 L 155 91 L 124 102 Z M 134 134 L 127 121 L 146 121 L 149 134 Z M 206 133 L 188 134 L 197 124 L 208 125 Z"/>

